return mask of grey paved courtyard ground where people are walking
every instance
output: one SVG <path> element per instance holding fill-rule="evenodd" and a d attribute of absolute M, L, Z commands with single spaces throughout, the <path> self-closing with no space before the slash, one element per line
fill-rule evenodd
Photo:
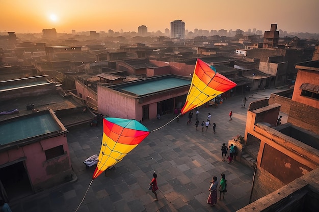
<path fill-rule="evenodd" d="M 256 99 L 270 97 L 278 90 L 246 94 L 249 105 Z M 188 116 L 174 120 L 150 135 L 116 165 L 101 174 L 88 190 L 78 211 L 235 211 L 247 205 L 252 187 L 253 170 L 237 161 L 228 164 L 221 160 L 221 145 L 245 131 L 247 109 L 241 108 L 241 97 L 224 101 L 218 108 L 200 108 L 199 120 L 208 112 L 216 123 L 208 131 L 196 131 L 195 118 L 187 125 Z M 233 120 L 229 121 L 229 111 Z M 281 114 L 283 115 L 283 114 Z M 143 124 L 149 130 L 163 126 L 175 117 L 161 116 Z M 83 127 L 67 134 L 71 163 L 77 180 L 33 196 L 10 202 L 14 212 L 75 211 L 88 189 L 95 167 L 86 169 L 83 161 L 98 154 L 102 127 Z M 148 190 L 152 174 L 157 173 L 159 201 Z M 207 203 L 209 180 L 225 173 L 227 190 L 225 200 L 218 200 L 211 208 Z"/>

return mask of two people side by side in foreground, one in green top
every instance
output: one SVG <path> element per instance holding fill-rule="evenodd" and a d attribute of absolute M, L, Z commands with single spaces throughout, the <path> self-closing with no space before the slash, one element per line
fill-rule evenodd
<path fill-rule="evenodd" d="M 217 176 L 212 177 L 212 180 L 209 181 L 211 184 L 209 186 L 209 196 L 207 199 L 207 204 L 209 204 L 211 207 L 215 206 L 217 203 L 217 189 L 219 191 L 219 198 L 218 200 L 225 199 L 225 192 L 227 192 L 227 180 L 225 179 L 225 174 L 221 174 L 221 179 L 218 182 Z"/>

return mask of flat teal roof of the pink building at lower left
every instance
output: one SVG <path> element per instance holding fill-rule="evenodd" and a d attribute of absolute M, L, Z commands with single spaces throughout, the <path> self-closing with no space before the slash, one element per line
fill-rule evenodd
<path fill-rule="evenodd" d="M 0 123 L 0 145 L 61 130 L 50 113 L 37 113 Z"/>

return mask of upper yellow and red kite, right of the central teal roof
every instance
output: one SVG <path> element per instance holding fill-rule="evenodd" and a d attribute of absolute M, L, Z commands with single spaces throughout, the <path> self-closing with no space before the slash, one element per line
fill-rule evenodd
<path fill-rule="evenodd" d="M 217 73 L 213 66 L 197 59 L 192 84 L 180 113 L 185 114 L 235 86 L 236 83 Z"/>

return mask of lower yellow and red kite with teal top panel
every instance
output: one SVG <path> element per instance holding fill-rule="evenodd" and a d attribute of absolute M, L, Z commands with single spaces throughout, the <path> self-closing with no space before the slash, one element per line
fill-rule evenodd
<path fill-rule="evenodd" d="M 150 131 L 135 119 L 104 117 L 102 145 L 93 179 L 120 162 L 149 133 Z"/>

